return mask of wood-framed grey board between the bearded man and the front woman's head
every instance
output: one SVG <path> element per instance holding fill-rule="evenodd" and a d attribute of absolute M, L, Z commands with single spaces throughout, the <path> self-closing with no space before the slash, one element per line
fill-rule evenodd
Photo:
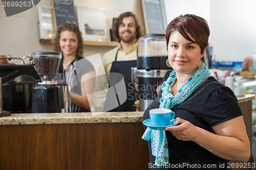
<path fill-rule="evenodd" d="M 141 0 L 147 34 L 165 34 L 166 16 L 163 0 Z"/>

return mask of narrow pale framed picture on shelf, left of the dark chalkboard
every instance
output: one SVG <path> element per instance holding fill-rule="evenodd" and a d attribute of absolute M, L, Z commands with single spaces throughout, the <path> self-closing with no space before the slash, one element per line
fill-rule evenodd
<path fill-rule="evenodd" d="M 38 6 L 38 23 L 40 39 L 52 39 L 56 35 L 56 26 L 53 18 L 53 8 Z"/>

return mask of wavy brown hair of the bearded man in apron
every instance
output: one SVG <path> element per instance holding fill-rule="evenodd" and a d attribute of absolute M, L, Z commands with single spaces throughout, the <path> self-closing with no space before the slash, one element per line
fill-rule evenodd
<path fill-rule="evenodd" d="M 139 39 L 142 36 L 141 28 L 140 28 L 140 25 L 139 25 L 139 22 L 138 22 L 138 18 L 132 12 L 124 12 L 121 15 L 119 15 L 119 17 L 116 18 L 114 23 L 113 23 L 113 28 L 112 28 L 113 35 L 114 35 L 115 40 L 118 41 L 118 42 L 121 41 L 120 37 L 118 35 L 119 26 L 122 24 L 123 18 L 129 17 L 129 16 L 134 17 L 134 20 L 135 20 L 135 23 L 136 23 L 136 38 Z"/>

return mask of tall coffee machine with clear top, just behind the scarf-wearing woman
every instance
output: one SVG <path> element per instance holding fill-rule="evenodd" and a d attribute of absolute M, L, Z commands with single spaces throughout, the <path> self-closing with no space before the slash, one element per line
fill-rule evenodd
<path fill-rule="evenodd" d="M 138 40 L 137 68 L 131 68 L 132 82 L 138 92 L 139 111 L 146 108 L 157 98 L 157 87 L 165 72 L 167 48 L 164 34 L 146 34 Z"/>

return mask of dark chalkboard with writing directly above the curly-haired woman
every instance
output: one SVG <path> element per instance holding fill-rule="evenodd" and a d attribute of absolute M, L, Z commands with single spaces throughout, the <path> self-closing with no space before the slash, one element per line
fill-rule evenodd
<path fill-rule="evenodd" d="M 63 22 L 76 23 L 73 0 L 53 0 L 57 27 Z"/>

